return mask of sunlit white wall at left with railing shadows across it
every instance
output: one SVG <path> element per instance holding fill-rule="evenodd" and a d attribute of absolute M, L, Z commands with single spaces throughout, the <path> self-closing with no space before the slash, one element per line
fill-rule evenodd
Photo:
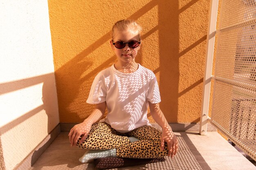
<path fill-rule="evenodd" d="M 12 170 L 59 123 L 45 1 L 0 5 L 0 169 Z"/>

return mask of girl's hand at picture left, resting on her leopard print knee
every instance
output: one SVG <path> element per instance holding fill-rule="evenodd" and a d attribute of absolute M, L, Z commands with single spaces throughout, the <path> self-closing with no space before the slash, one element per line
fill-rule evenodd
<path fill-rule="evenodd" d="M 82 139 L 80 140 L 80 144 L 82 144 L 88 136 L 91 126 L 92 125 L 90 123 L 87 123 L 86 121 L 82 122 L 81 124 L 75 125 L 68 134 L 71 146 L 76 145 L 81 135 L 83 135 Z"/>

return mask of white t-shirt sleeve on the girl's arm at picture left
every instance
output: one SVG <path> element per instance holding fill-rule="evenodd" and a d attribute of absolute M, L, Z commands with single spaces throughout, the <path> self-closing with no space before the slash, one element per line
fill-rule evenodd
<path fill-rule="evenodd" d="M 106 101 L 106 86 L 104 86 L 104 77 L 99 73 L 92 82 L 92 87 L 86 103 L 99 104 Z"/>

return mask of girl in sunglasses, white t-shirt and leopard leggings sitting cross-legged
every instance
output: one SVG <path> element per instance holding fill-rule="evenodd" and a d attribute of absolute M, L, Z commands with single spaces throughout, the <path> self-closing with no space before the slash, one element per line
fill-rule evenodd
<path fill-rule="evenodd" d="M 140 31 L 133 20 L 120 20 L 112 28 L 110 45 L 117 62 L 95 77 L 86 101 L 95 109 L 69 133 L 71 146 L 88 149 L 79 159 L 83 163 L 101 157 L 173 158 L 177 152 L 177 137 L 159 108 L 157 79 L 135 62 Z M 150 126 L 148 106 L 162 132 Z M 108 115 L 101 120 L 106 107 Z"/>

